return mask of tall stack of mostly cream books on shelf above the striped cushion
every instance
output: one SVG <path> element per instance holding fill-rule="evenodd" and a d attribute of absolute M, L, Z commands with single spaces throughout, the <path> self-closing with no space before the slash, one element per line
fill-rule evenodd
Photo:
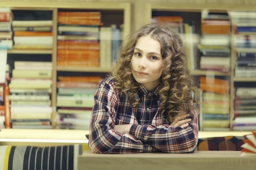
<path fill-rule="evenodd" d="M 52 128 L 52 62 L 14 61 L 9 89 L 12 128 Z"/>

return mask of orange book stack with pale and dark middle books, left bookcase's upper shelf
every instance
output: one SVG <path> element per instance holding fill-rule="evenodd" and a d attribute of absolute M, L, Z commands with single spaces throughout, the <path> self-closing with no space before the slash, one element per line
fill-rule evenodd
<path fill-rule="evenodd" d="M 98 11 L 59 11 L 57 65 L 99 67 L 102 25 Z"/>

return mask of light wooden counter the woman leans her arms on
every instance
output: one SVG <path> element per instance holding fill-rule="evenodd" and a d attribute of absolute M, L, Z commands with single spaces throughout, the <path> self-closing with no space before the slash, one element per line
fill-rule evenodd
<path fill-rule="evenodd" d="M 192 154 L 95 154 L 85 150 L 78 170 L 256 170 L 256 157 L 240 151 L 196 151 Z"/>

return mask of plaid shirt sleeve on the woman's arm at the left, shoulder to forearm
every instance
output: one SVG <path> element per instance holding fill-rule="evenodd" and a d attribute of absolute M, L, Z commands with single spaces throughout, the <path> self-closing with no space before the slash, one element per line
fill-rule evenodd
<path fill-rule="evenodd" d="M 94 100 L 89 136 L 89 146 L 94 153 L 142 153 L 156 150 L 128 133 L 115 131 L 118 97 L 108 83 L 99 84 Z"/>

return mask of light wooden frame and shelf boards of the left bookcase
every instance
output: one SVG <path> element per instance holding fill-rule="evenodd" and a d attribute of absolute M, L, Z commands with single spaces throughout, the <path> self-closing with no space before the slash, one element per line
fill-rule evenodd
<path fill-rule="evenodd" d="M 90 68 L 90 67 L 65 67 L 57 66 L 57 35 L 58 35 L 58 11 L 100 11 L 101 20 L 104 26 L 110 24 L 124 24 L 123 37 L 130 33 L 131 26 L 131 5 L 130 3 L 118 2 L 1 2 L 0 7 L 10 7 L 12 10 L 19 11 L 49 11 L 52 13 L 52 32 L 53 46 L 52 50 L 8 50 L 8 55 L 15 54 L 31 54 L 31 55 L 47 55 L 52 61 L 52 128 L 56 128 L 56 94 L 57 94 L 57 76 L 58 74 L 68 74 L 75 72 L 79 74 L 101 74 L 104 75 L 111 71 L 110 68 Z M 8 56 L 9 57 L 9 56 Z M 7 58 L 8 60 L 8 58 Z"/>

